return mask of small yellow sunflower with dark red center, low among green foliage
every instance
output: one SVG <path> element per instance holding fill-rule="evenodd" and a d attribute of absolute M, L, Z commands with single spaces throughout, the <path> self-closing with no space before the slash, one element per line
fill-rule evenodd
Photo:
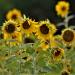
<path fill-rule="evenodd" d="M 53 53 L 52 53 L 52 58 L 55 61 L 61 60 L 61 58 L 64 55 L 64 49 L 62 48 L 54 48 Z"/>

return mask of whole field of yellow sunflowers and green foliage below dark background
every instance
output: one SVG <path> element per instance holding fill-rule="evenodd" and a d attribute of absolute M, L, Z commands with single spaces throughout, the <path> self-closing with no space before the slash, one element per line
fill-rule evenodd
<path fill-rule="evenodd" d="M 17 8 L 6 12 L 0 26 L 0 75 L 75 75 L 74 15 L 68 15 L 70 3 L 55 5 L 55 25 L 49 19 L 36 21 Z M 64 26 L 61 34 L 58 27 Z"/>

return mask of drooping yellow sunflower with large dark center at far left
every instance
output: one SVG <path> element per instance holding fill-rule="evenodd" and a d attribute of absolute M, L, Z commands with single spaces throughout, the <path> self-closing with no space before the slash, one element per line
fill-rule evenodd
<path fill-rule="evenodd" d="M 4 34 L 4 39 L 9 39 L 9 37 L 11 37 L 11 35 L 15 33 L 16 25 L 17 25 L 16 22 L 12 20 L 6 21 L 3 24 L 2 31 Z"/>

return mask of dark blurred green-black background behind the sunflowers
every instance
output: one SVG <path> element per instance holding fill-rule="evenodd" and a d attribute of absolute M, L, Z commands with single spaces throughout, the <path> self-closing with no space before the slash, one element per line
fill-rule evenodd
<path fill-rule="evenodd" d="M 57 24 L 63 20 L 57 16 L 55 11 L 55 5 L 58 1 L 60 0 L 0 0 L 0 25 L 4 22 L 6 13 L 12 8 L 21 10 L 22 14 L 36 21 L 48 18 L 52 23 Z M 70 2 L 70 14 L 74 14 L 75 0 L 66 1 Z M 74 19 L 69 24 L 74 25 Z"/>

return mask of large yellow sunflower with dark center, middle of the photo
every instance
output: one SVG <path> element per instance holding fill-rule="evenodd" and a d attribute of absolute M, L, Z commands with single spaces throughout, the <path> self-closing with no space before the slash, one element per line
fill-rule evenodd
<path fill-rule="evenodd" d="M 39 25 L 37 26 L 36 35 L 38 39 L 47 40 L 50 39 L 50 36 L 55 32 L 56 27 L 54 26 L 54 24 L 51 24 L 46 20 L 39 23 Z"/>

